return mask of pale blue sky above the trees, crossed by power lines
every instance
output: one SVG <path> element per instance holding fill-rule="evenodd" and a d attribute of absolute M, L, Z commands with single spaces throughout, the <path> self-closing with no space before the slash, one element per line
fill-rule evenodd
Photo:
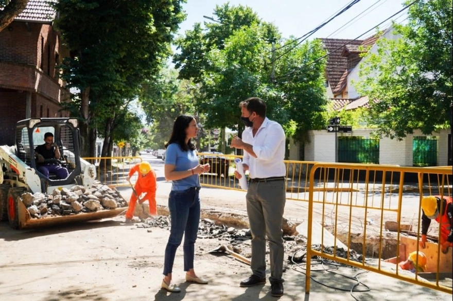
<path fill-rule="evenodd" d="M 213 22 L 203 17 L 213 15 L 216 5 L 229 2 L 230 6 L 248 6 L 265 22 L 273 23 L 284 38 L 301 37 L 341 11 L 352 0 L 187 0 L 183 9 L 186 20 L 180 24 L 179 34 L 192 29 L 195 23 Z M 363 40 L 375 32 L 376 25 L 401 10 L 403 0 L 360 0 L 349 10 L 334 18 L 308 39 L 329 37 L 331 39 Z M 362 13 L 363 12 L 363 13 Z M 404 22 L 405 10 L 393 20 Z M 362 14 L 360 14 L 362 13 Z M 352 20 L 352 21 L 351 21 Z M 350 22 L 350 23 L 348 23 Z M 348 24 L 346 24 L 348 23 Z M 344 27 L 343 27 L 344 25 Z M 388 27 L 390 20 L 379 26 Z M 364 34 L 368 30 L 368 33 Z M 338 31 L 337 31 L 338 30 Z M 363 35 L 362 35 L 363 34 Z M 359 37 L 362 35 L 361 37 Z"/>

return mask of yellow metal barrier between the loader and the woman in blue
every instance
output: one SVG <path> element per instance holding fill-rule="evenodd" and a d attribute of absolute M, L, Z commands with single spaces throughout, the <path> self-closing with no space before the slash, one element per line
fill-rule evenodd
<path fill-rule="evenodd" d="M 98 179 L 101 183 L 115 186 L 129 186 L 126 181 L 129 170 L 138 162 L 142 162 L 141 157 L 88 157 L 83 158 L 96 166 Z M 131 178 L 134 183 L 137 174 Z"/>

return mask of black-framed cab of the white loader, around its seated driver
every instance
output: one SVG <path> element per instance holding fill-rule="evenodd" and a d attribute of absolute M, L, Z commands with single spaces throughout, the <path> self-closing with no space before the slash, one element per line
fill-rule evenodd
<path fill-rule="evenodd" d="M 78 121 L 75 118 L 31 118 L 19 121 L 16 125 L 16 155 L 25 164 L 34 168 L 45 186 L 76 184 L 80 179 L 80 146 Z M 54 134 L 54 142 L 60 150 L 61 166 L 68 170 L 66 179 L 58 179 L 56 175 L 45 177 L 38 169 L 34 149 L 44 144 L 44 134 Z"/>

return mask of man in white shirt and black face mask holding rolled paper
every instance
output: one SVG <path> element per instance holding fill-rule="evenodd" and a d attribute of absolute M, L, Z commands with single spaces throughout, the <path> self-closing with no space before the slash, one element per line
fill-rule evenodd
<path fill-rule="evenodd" d="M 247 128 L 231 146 L 244 150 L 242 166 L 249 171 L 247 214 L 252 233 L 252 275 L 241 287 L 266 283 L 266 236 L 269 240 L 271 295 L 283 295 L 283 211 L 286 202 L 285 132 L 266 117 L 266 103 L 251 97 L 239 104 Z M 236 171 L 235 176 L 241 175 Z"/>

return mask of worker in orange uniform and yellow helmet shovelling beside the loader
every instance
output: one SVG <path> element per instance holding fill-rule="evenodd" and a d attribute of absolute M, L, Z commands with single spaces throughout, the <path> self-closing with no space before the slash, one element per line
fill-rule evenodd
<path fill-rule="evenodd" d="M 148 200 L 149 214 L 157 215 L 158 210 L 155 201 L 155 192 L 157 185 L 155 172 L 152 170 L 151 165 L 148 162 L 137 163 L 129 171 L 129 175 L 126 180 L 129 181 L 129 179 L 135 173 L 138 173 L 137 182 L 134 186 L 137 195 L 140 197 L 143 193 L 146 193 L 146 195 L 141 198 L 140 203 L 142 204 L 144 201 Z M 129 208 L 126 212 L 126 221 L 132 220 L 136 202 L 137 196 L 132 192 L 131 199 L 129 200 Z"/>

